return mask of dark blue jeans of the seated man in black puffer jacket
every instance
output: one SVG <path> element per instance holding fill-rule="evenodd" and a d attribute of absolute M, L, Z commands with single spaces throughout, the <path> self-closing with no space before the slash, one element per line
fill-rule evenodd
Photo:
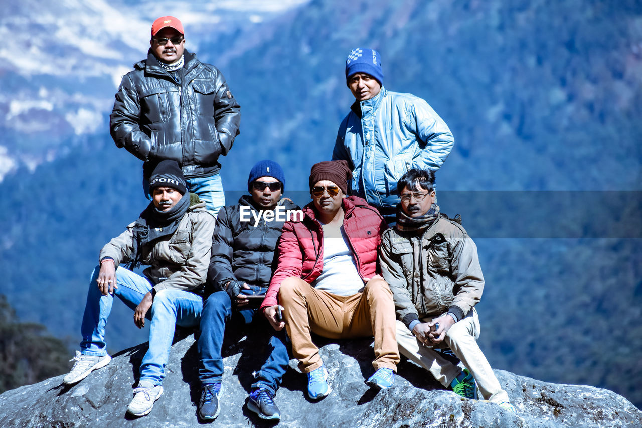
<path fill-rule="evenodd" d="M 265 289 L 262 290 L 265 293 Z M 232 317 L 232 315 L 235 317 Z M 272 395 L 275 395 L 290 362 L 286 346 L 286 330 L 284 328 L 280 332 L 275 332 L 259 309 L 234 310 L 233 314 L 232 301 L 225 291 L 214 292 L 205 300 L 203 305 L 203 316 L 200 322 L 201 335 L 198 339 L 198 352 L 201 357 L 198 378 L 204 385 L 218 384 L 223 379 L 221 348 L 223 346 L 223 335 L 225 334 L 225 323 L 230 319 L 232 319 L 232 322 L 243 323 L 243 325 L 252 323 L 253 326 L 250 328 L 252 331 L 261 330 L 265 332 L 269 328 L 272 332 L 269 344 L 271 348 L 270 355 L 261 370 L 256 373 L 256 382 L 252 384 L 252 389 L 265 388 Z M 263 324 L 261 328 L 258 328 L 258 323 Z M 256 328 L 254 325 L 256 325 Z M 265 335 L 268 334 L 264 333 L 263 337 Z"/>

